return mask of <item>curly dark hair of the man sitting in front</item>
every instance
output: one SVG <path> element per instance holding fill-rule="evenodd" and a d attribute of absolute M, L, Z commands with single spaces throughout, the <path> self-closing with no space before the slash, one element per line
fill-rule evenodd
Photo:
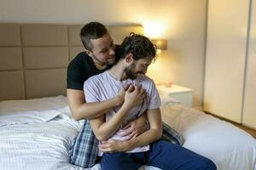
<path fill-rule="evenodd" d="M 143 59 L 145 57 L 155 58 L 155 46 L 148 37 L 131 32 L 122 42 L 119 49 L 120 58 L 125 59 L 126 54 L 133 54 L 133 59 Z"/>

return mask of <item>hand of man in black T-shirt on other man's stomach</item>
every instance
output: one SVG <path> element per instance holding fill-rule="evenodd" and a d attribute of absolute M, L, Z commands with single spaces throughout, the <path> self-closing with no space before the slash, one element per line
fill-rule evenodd
<path fill-rule="evenodd" d="M 122 137 L 126 137 L 126 140 L 136 138 L 141 133 L 144 133 L 148 130 L 148 122 L 146 111 L 142 116 L 139 116 L 137 119 L 128 122 L 125 127 L 118 132 Z"/>

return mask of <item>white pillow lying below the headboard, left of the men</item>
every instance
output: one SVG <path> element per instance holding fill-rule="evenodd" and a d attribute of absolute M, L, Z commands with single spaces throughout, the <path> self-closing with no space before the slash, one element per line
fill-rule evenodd
<path fill-rule="evenodd" d="M 0 127 L 10 124 L 48 122 L 56 116 L 71 117 L 65 96 L 0 102 Z"/>

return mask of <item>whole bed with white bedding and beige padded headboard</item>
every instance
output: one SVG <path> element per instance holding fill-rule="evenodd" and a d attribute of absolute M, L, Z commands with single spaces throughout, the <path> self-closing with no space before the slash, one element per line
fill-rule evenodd
<path fill-rule="evenodd" d="M 0 169 L 84 169 L 68 161 L 83 122 L 73 121 L 65 97 L 68 62 L 83 50 L 80 28 L 0 23 Z M 116 43 L 131 31 L 143 33 L 140 25 L 108 28 Z M 218 170 L 256 170 L 256 142 L 248 133 L 174 99 L 162 98 L 160 109 L 183 147 Z"/>

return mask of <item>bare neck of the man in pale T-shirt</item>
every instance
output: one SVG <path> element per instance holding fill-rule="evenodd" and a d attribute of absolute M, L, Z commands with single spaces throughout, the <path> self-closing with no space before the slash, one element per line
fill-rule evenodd
<path fill-rule="evenodd" d="M 117 81 L 123 81 L 127 78 L 122 61 L 119 61 L 116 65 L 113 65 L 108 72 Z"/>

